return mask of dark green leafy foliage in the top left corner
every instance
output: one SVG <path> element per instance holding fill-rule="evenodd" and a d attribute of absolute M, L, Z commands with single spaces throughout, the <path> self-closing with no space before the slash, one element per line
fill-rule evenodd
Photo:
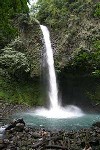
<path fill-rule="evenodd" d="M 28 13 L 27 0 L 0 1 L 0 48 L 14 39 L 18 34 L 14 27 L 14 18 L 19 13 Z"/>

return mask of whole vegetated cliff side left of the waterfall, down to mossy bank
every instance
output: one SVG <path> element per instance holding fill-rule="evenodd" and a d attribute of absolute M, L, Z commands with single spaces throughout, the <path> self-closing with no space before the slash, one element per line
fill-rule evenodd
<path fill-rule="evenodd" d="M 27 2 L 0 1 L 0 99 L 36 106 L 43 104 L 39 77 L 33 78 L 39 76 L 40 37 L 34 35 L 37 23 L 29 18 Z"/>

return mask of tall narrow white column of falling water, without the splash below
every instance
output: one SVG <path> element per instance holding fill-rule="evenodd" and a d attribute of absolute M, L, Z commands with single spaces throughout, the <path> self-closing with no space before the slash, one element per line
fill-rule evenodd
<path fill-rule="evenodd" d="M 50 34 L 49 30 L 46 26 L 40 25 L 43 37 L 44 37 L 44 44 L 46 49 L 46 62 L 49 71 L 49 100 L 50 100 L 50 108 L 57 108 L 59 107 L 58 103 L 58 88 L 57 88 L 57 80 L 54 68 L 54 59 L 53 59 L 53 50 L 51 47 L 50 42 Z"/>

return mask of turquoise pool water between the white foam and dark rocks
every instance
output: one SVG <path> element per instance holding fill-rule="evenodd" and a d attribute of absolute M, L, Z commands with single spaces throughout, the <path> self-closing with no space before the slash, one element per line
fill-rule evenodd
<path fill-rule="evenodd" d="M 85 114 L 78 118 L 54 119 L 37 116 L 34 113 L 19 113 L 14 118 L 23 118 L 27 125 L 44 127 L 48 130 L 79 130 L 89 128 L 94 122 L 100 121 L 100 114 Z"/>

